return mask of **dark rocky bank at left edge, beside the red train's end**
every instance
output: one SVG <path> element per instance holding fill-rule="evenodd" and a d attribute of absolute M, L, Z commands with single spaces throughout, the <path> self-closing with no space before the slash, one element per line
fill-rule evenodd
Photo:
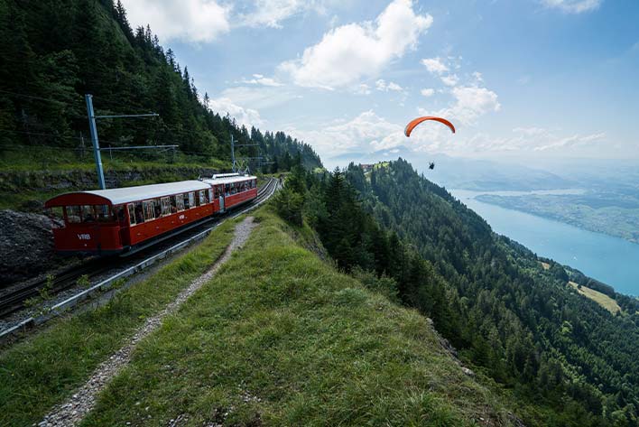
<path fill-rule="evenodd" d="M 44 215 L 0 210 L 0 288 L 60 265 L 51 231 L 57 222 Z"/>

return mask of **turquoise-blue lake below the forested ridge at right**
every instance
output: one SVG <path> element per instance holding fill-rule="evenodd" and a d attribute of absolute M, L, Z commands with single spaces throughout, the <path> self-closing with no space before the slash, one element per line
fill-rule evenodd
<path fill-rule="evenodd" d="M 475 199 L 480 194 L 524 195 L 535 191 L 449 191 L 486 219 L 496 233 L 516 240 L 537 255 L 577 268 L 617 292 L 639 295 L 639 245 Z M 560 194 L 558 191 L 553 190 Z M 564 191 L 574 194 L 575 190 Z"/>

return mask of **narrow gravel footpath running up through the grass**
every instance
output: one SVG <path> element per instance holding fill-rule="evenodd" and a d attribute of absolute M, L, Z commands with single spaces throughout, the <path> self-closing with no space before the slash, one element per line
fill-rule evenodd
<path fill-rule="evenodd" d="M 218 272 L 219 268 L 227 262 L 233 252 L 245 244 L 251 235 L 251 231 L 256 226 L 253 222 L 253 217 L 247 217 L 244 221 L 238 223 L 233 241 L 227 246 L 224 255 L 205 274 L 199 276 L 199 278 L 190 283 L 187 289 L 180 292 L 175 301 L 169 303 L 158 314 L 146 320 L 144 326 L 134 333 L 134 336 L 129 339 L 123 348 L 117 350 L 116 353 L 97 367 L 85 385 L 82 385 L 65 403 L 54 407 L 51 413 L 48 413 L 38 426 L 62 427 L 78 424 L 93 409 L 97 395 L 104 389 L 106 384 L 129 362 L 137 343 L 154 330 L 157 330 L 167 315 L 176 311 L 182 302 L 185 302 L 204 283 L 207 283 Z"/>

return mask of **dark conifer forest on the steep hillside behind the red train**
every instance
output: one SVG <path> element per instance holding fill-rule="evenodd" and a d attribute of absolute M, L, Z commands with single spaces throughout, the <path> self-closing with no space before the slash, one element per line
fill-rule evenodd
<path fill-rule="evenodd" d="M 132 29 L 111 0 L 0 0 L 0 151 L 23 146 L 74 150 L 88 138 L 84 95 L 98 115 L 156 112 L 144 120 L 101 120 L 103 147 L 178 144 L 182 155 L 264 157 L 264 172 L 286 171 L 297 153 L 321 166 L 310 145 L 283 132 L 238 125 L 211 111 L 186 66 L 164 50 L 151 29 Z M 90 143 L 89 143 L 90 144 Z"/>

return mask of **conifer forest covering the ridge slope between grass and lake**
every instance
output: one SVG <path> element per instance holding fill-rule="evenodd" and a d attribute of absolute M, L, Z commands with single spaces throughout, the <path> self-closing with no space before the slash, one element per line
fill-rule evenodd
<path fill-rule="evenodd" d="M 542 268 L 402 159 L 368 173 L 294 167 L 277 207 L 313 227 L 340 268 L 430 316 L 459 357 L 512 391 L 524 422 L 636 425 L 635 299 L 613 292 L 614 316 L 579 296 L 569 279 L 605 285 Z"/>

